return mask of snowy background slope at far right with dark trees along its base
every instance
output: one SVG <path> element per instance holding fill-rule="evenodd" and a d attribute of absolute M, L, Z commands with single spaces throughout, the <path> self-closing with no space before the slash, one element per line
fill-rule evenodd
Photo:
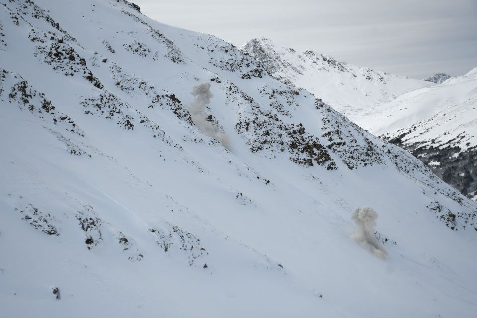
<path fill-rule="evenodd" d="M 477 199 L 477 68 L 379 105 L 361 123 Z"/>

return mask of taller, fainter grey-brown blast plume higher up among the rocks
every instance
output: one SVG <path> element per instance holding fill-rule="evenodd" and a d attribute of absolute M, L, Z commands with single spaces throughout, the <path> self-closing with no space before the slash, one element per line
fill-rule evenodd
<path fill-rule="evenodd" d="M 210 83 L 203 82 L 195 85 L 192 88 L 191 94 L 196 96 L 189 106 L 192 122 L 205 134 L 217 139 L 222 145 L 229 148 L 230 144 L 227 135 L 207 120 L 205 105 L 210 103 L 210 99 L 214 97 L 210 91 Z"/>

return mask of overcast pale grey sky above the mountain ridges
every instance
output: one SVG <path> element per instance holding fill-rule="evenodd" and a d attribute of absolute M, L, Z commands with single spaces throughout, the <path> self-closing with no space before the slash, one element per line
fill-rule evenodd
<path fill-rule="evenodd" d="M 477 0 L 133 0 L 159 22 L 237 46 L 267 37 L 423 79 L 477 67 Z"/>

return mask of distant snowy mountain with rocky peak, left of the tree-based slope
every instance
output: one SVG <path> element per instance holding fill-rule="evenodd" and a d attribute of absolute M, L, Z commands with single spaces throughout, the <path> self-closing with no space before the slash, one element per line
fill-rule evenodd
<path fill-rule="evenodd" d="M 307 89 L 349 118 L 410 90 L 432 85 L 339 62 L 314 51 L 300 53 L 266 38 L 250 40 L 241 49 L 260 61 L 275 79 Z"/>

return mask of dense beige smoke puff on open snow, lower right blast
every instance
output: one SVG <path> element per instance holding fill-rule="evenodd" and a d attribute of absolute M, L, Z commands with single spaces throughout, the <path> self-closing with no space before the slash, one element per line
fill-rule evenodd
<path fill-rule="evenodd" d="M 369 207 L 361 207 L 353 211 L 351 218 L 355 222 L 353 239 L 373 255 L 386 259 L 386 251 L 373 236 L 378 213 Z"/>

